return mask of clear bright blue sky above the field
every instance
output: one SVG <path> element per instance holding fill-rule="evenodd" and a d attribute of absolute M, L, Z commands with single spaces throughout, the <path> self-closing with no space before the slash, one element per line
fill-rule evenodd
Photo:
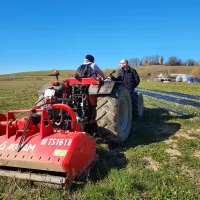
<path fill-rule="evenodd" d="M 200 1 L 0 1 L 0 74 L 101 68 L 122 58 L 200 60 Z"/>

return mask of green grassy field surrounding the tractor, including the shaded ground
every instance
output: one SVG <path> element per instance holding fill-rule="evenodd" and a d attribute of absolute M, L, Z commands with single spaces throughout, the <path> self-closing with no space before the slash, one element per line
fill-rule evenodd
<path fill-rule="evenodd" d="M 45 76 L 50 73 L 0 76 L 0 113 L 31 108 L 39 88 L 54 79 Z M 67 72 L 61 78 L 65 76 Z M 198 95 L 200 84 L 142 81 L 140 87 Z M 179 107 L 145 97 L 144 117 L 134 121 L 134 134 L 112 150 L 98 143 L 97 165 L 84 182 L 75 182 L 70 191 L 0 177 L 0 199 L 199 199 L 199 117 L 183 117 L 161 108 L 167 104 Z"/>

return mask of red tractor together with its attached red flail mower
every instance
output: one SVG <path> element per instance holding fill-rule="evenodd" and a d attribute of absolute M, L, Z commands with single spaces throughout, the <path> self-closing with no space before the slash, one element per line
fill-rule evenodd
<path fill-rule="evenodd" d="M 61 184 L 69 188 L 84 177 L 98 159 L 90 132 L 109 142 L 124 142 L 132 126 L 132 107 L 143 113 L 143 99 L 136 104 L 121 82 L 94 78 L 67 78 L 45 84 L 32 110 L 0 114 L 0 175 Z M 89 95 L 98 97 L 96 122 L 91 124 Z M 138 98 L 139 97 L 139 98 Z M 30 113 L 16 119 L 17 113 Z M 21 169 L 21 172 L 16 171 Z M 47 175 L 29 173 L 29 170 Z M 57 176 L 55 176 L 55 173 Z"/>

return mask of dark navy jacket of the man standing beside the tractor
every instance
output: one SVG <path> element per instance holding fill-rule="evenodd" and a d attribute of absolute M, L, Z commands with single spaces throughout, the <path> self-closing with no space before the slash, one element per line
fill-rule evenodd
<path fill-rule="evenodd" d="M 140 77 L 134 68 L 128 66 L 126 70 L 120 69 L 118 77 L 112 77 L 112 80 L 122 81 L 127 89 L 134 90 L 140 83 Z"/>

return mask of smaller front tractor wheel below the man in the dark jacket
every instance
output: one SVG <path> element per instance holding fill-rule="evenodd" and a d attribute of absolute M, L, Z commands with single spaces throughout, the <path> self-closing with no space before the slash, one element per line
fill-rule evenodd
<path fill-rule="evenodd" d="M 138 92 L 134 92 L 132 95 L 133 106 L 133 118 L 141 118 L 144 113 L 144 99 L 143 95 Z"/>

